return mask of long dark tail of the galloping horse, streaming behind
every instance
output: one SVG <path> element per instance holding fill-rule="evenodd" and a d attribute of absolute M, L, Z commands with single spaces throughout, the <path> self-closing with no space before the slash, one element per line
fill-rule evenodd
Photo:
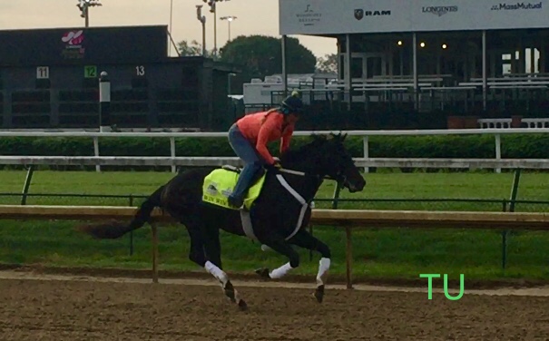
<path fill-rule="evenodd" d="M 79 227 L 83 233 L 89 234 L 95 239 L 118 239 L 124 234 L 139 229 L 151 218 L 152 209 L 162 205 L 162 192 L 166 185 L 162 185 L 158 190 L 155 190 L 141 207 L 137 209 L 132 221 L 129 224 L 111 221 L 102 224 L 88 224 Z"/>

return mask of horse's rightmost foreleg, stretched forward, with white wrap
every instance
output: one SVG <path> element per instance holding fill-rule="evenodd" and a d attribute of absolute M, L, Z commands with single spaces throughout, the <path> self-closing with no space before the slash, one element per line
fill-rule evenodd
<path fill-rule="evenodd" d="M 317 274 L 317 289 L 315 297 L 319 302 L 324 298 L 324 286 L 328 277 L 328 269 L 330 266 L 331 252 L 328 245 L 324 244 L 319 239 L 312 236 L 307 230 L 300 229 L 299 232 L 289 239 L 290 244 L 299 246 L 299 248 L 307 248 L 313 251 L 318 251 L 322 258 L 319 261 L 319 273 Z"/>

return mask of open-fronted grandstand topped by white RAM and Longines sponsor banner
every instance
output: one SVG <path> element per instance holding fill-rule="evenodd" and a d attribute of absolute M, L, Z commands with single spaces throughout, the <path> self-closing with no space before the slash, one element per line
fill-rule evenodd
<path fill-rule="evenodd" d="M 279 0 L 283 38 L 338 46 L 338 80 L 312 109 L 337 108 L 361 128 L 478 128 L 496 118 L 527 126 L 522 118 L 547 117 L 548 17 L 549 0 Z"/>

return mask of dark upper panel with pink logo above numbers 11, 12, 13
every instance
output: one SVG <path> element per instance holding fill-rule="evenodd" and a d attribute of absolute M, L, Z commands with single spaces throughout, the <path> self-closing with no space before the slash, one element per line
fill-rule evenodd
<path fill-rule="evenodd" d="M 164 25 L 3 30 L 0 46 L 2 66 L 155 63 L 168 58 Z"/>

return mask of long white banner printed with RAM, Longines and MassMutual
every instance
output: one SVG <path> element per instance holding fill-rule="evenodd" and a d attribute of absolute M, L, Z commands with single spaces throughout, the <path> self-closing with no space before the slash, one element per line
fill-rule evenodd
<path fill-rule="evenodd" d="M 279 34 L 549 28 L 547 18 L 549 0 L 279 0 Z"/>

